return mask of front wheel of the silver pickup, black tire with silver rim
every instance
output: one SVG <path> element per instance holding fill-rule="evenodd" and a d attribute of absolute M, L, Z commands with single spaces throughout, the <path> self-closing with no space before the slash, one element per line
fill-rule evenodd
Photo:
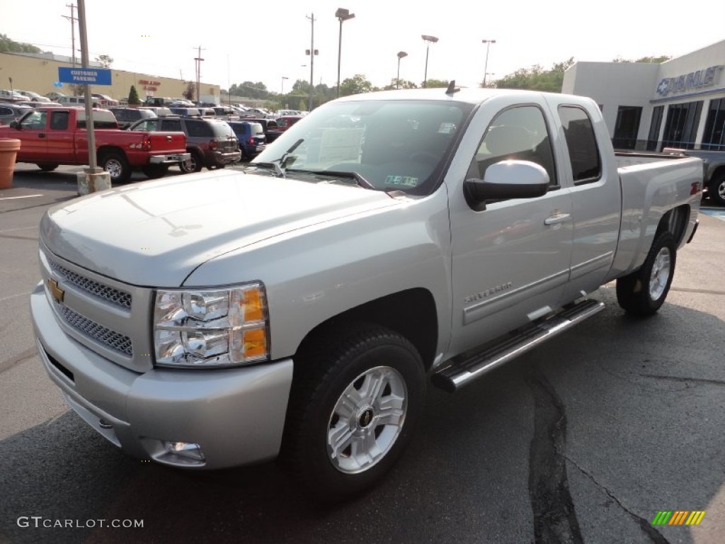
<path fill-rule="evenodd" d="M 365 323 L 328 331 L 295 359 L 281 461 L 318 500 L 360 493 L 405 449 L 425 383 L 421 356 L 396 332 Z"/>

